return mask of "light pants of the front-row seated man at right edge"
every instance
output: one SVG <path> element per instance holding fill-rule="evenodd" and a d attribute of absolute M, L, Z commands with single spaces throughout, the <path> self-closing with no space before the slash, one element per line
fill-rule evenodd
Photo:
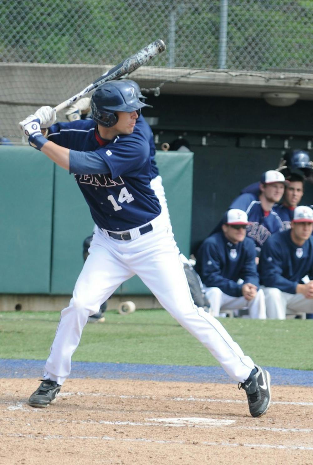
<path fill-rule="evenodd" d="M 267 318 L 286 319 L 288 313 L 313 313 L 313 299 L 306 299 L 303 294 L 289 294 L 277 287 L 265 287 L 265 306 Z"/>

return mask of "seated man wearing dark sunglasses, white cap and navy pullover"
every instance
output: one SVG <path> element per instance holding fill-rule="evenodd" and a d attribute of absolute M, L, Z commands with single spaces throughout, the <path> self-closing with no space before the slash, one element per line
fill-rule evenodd
<path fill-rule="evenodd" d="M 248 307 L 251 318 L 265 319 L 254 241 L 246 237 L 247 214 L 232 208 L 224 214 L 222 223 L 222 231 L 205 239 L 197 252 L 196 271 L 204 283 L 211 312 L 218 316 L 223 309 Z"/>

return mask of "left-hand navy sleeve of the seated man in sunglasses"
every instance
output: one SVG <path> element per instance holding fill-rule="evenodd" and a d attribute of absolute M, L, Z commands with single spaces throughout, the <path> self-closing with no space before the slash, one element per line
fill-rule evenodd
<path fill-rule="evenodd" d="M 217 244 L 206 241 L 199 250 L 199 254 L 201 255 L 200 276 L 202 282 L 207 287 L 219 287 L 225 294 L 241 297 L 242 285 L 222 276 L 221 257 L 218 248 Z"/>

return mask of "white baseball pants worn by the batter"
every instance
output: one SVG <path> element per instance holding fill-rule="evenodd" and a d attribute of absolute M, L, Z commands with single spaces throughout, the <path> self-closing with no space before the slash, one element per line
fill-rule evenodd
<path fill-rule="evenodd" d="M 249 377 L 254 368 L 252 359 L 244 355 L 217 319 L 194 305 L 176 242 L 162 215 L 150 223 L 152 231 L 140 235 L 139 228 L 131 229 L 132 239 L 125 241 L 112 239 L 107 231 L 96 229 L 73 297 L 61 312 L 44 379 L 60 385 L 64 382 L 88 316 L 98 312 L 102 302 L 134 274 L 170 315 L 211 352 L 232 379 L 244 382 Z"/>

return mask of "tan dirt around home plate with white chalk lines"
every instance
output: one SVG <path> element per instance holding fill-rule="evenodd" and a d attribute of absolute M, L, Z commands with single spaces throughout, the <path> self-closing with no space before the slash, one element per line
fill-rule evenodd
<path fill-rule="evenodd" d="M 249 415 L 237 385 L 68 379 L 27 405 L 35 379 L 0 379 L 1 465 L 313 464 L 313 388 L 272 388 Z"/>

